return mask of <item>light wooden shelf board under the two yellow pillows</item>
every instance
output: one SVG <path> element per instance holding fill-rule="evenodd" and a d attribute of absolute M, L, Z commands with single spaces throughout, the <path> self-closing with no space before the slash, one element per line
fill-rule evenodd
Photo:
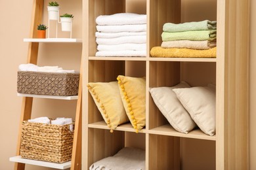
<path fill-rule="evenodd" d="M 110 128 L 107 126 L 107 124 L 104 121 L 100 121 L 100 122 L 95 122 L 93 124 L 88 124 L 88 127 L 91 128 L 96 128 L 96 129 L 108 129 L 110 130 Z M 114 129 L 114 131 L 131 131 L 131 132 L 135 132 L 135 129 L 133 129 L 133 126 L 131 126 L 130 123 L 127 124 L 121 124 L 119 126 L 116 127 L 116 129 Z M 142 129 L 139 131 L 139 133 L 146 133 L 145 129 Z"/>

